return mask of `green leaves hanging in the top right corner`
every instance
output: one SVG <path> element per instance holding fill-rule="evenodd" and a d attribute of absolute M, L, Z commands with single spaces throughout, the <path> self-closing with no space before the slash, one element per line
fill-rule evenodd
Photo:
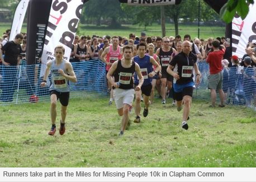
<path fill-rule="evenodd" d="M 253 3 L 254 0 L 229 0 L 221 8 L 220 16 L 226 23 L 230 23 L 236 13 L 244 19 L 249 12 L 249 5 Z"/>

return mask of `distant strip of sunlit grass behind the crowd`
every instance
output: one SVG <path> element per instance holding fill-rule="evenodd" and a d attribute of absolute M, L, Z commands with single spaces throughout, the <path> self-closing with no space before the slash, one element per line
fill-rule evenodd
<path fill-rule="evenodd" d="M 11 27 L 11 23 L 0 23 L 0 32 L 3 33 L 8 28 Z M 179 35 L 182 37 L 185 34 L 191 35 L 192 38 L 197 37 L 198 27 L 191 25 L 179 25 Z M 26 25 L 22 27 L 22 32 L 26 32 Z M 135 33 L 135 35 L 140 36 L 140 32 L 144 31 L 144 27 L 138 25 L 124 25 L 120 29 L 112 29 L 106 26 L 93 26 L 93 25 L 79 25 L 78 35 L 119 35 L 129 37 L 130 33 Z M 168 23 L 166 25 L 167 36 L 175 36 L 174 25 Z M 146 27 L 146 34 L 148 36 L 162 36 L 161 26 L 154 24 L 152 26 Z M 200 27 L 200 38 L 207 39 L 208 37 L 221 37 L 225 36 L 225 27 L 217 26 L 202 26 Z"/>

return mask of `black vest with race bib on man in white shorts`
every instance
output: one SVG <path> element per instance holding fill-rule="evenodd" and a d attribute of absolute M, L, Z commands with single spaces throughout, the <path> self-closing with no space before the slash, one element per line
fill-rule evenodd
<path fill-rule="evenodd" d="M 121 89 L 134 89 L 134 80 L 132 75 L 135 73 L 135 62 L 132 61 L 130 68 L 122 67 L 121 60 L 118 60 L 117 68 L 113 76 L 115 77 L 115 82 L 119 82 L 119 88 Z"/>

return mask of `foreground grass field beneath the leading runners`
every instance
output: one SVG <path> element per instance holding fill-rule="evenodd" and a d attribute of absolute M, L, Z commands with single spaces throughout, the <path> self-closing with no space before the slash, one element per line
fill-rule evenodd
<path fill-rule="evenodd" d="M 63 136 L 48 136 L 47 102 L 2 106 L 0 167 L 256 167 L 251 109 L 193 101 L 185 131 L 172 100 L 164 107 L 155 101 L 121 137 L 121 117 L 108 98 L 70 99 Z"/>

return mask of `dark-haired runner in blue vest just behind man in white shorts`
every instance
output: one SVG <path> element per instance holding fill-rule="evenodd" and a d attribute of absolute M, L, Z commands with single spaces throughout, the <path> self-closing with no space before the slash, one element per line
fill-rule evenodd
<path fill-rule="evenodd" d="M 136 118 L 134 120 L 135 123 L 140 122 L 140 100 L 141 100 L 141 94 L 143 94 L 143 102 L 145 104 L 143 116 L 148 116 L 149 113 L 149 97 L 152 90 L 152 77 L 155 76 L 158 71 L 161 69 L 160 65 L 155 61 L 155 59 L 149 55 L 145 55 L 146 53 L 146 44 L 140 43 L 137 45 L 138 49 L 138 56 L 134 57 L 135 63 L 137 63 L 140 66 L 141 74 L 143 75 L 144 82 L 141 86 L 141 89 L 135 92 L 136 99 L 135 99 L 135 114 Z M 153 49 L 154 50 L 154 49 Z M 153 66 L 155 66 L 155 70 L 153 69 Z M 135 86 L 139 84 L 138 75 L 135 73 L 134 75 L 135 79 Z"/>

